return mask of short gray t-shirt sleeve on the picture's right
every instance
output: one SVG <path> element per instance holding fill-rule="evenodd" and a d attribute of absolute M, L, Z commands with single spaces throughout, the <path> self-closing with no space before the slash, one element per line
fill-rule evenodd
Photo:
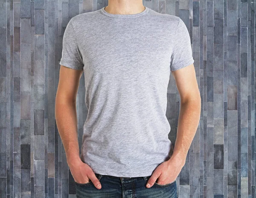
<path fill-rule="evenodd" d="M 171 71 L 184 68 L 194 63 L 189 31 L 180 18 L 175 32 L 172 50 Z"/>

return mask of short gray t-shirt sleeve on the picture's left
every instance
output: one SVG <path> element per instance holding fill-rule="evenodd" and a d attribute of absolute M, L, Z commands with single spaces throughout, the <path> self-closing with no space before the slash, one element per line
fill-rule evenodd
<path fill-rule="evenodd" d="M 83 70 L 83 60 L 72 25 L 72 19 L 68 22 L 63 34 L 62 53 L 60 65 L 68 68 Z"/>

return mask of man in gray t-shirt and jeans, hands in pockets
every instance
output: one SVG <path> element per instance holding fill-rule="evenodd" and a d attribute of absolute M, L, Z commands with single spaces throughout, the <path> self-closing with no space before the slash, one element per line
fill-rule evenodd
<path fill-rule="evenodd" d="M 193 63 L 183 21 L 140 0 L 109 0 L 69 21 L 55 117 L 78 197 L 177 197 L 176 178 L 201 111 Z M 82 73 L 88 114 L 79 156 L 76 94 Z M 174 150 L 166 118 L 171 73 L 181 101 Z"/>

